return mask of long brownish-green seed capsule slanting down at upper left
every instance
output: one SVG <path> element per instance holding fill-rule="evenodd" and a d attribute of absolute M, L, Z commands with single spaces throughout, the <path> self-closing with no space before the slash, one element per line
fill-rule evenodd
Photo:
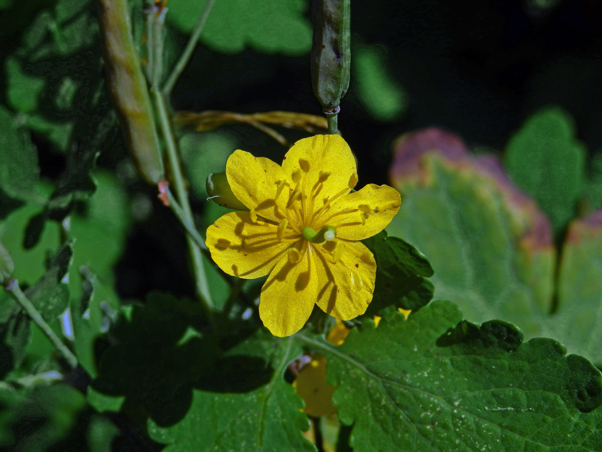
<path fill-rule="evenodd" d="M 134 46 L 126 0 L 96 0 L 108 90 L 134 167 L 156 184 L 164 178 L 155 118 L 140 57 Z"/>

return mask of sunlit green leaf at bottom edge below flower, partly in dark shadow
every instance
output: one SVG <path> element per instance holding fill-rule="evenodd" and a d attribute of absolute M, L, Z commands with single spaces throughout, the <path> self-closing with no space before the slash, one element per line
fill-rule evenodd
<path fill-rule="evenodd" d="M 213 388 L 195 389 L 187 415 L 173 427 L 150 422 L 151 438 L 167 444 L 166 452 L 315 450 L 302 434 L 309 422 L 301 400 L 282 378 L 300 353 L 290 337 L 258 331 L 221 357 L 225 381 L 216 375 Z"/>

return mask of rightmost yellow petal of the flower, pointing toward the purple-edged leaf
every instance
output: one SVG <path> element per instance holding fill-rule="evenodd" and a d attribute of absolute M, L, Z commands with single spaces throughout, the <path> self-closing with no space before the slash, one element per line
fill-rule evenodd
<path fill-rule="evenodd" d="M 341 239 L 367 239 L 391 222 L 401 203 L 399 192 L 393 187 L 368 184 L 334 202 L 315 222 L 315 228 L 329 224 L 337 229 Z"/>

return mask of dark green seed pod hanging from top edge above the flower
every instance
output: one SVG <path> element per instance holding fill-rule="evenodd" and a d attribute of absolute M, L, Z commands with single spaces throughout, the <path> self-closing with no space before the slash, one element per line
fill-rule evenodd
<path fill-rule="evenodd" d="M 314 43 L 309 55 L 314 94 L 326 114 L 338 113 L 349 89 L 350 0 L 314 0 Z"/>

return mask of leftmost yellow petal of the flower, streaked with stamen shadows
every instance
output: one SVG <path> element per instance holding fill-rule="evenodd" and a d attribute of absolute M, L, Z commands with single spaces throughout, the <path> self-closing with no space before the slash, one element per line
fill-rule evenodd
<path fill-rule="evenodd" d="M 280 242 L 277 234 L 276 225 L 253 222 L 249 212 L 231 212 L 207 228 L 205 244 L 223 271 L 252 279 L 267 275 L 280 257 L 286 258 L 291 242 Z"/>

